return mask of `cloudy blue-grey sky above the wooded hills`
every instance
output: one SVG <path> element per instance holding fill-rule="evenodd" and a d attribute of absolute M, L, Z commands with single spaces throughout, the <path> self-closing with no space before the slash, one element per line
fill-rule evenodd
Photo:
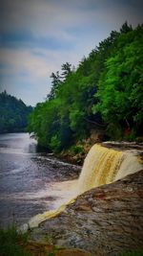
<path fill-rule="evenodd" d="M 51 72 L 77 67 L 128 21 L 143 23 L 142 0 L 0 0 L 0 92 L 44 102 Z"/>

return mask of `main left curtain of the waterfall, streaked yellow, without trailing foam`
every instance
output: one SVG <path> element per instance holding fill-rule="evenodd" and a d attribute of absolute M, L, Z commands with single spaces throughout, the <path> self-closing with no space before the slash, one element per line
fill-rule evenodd
<path fill-rule="evenodd" d="M 115 151 L 98 144 L 89 151 L 77 185 L 77 194 L 81 194 L 93 187 L 111 183 L 116 175 L 123 152 Z"/>

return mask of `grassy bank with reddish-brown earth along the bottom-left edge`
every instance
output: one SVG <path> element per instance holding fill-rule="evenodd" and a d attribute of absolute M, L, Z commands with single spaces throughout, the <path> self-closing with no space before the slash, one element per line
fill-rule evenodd
<path fill-rule="evenodd" d="M 51 243 L 40 244 L 29 241 L 29 233 L 17 232 L 13 223 L 7 229 L 0 228 L 0 256 L 54 256 L 58 248 Z"/>

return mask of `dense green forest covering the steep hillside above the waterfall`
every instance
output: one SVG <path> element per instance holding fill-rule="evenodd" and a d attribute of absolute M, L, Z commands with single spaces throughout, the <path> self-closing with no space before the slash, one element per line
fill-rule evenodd
<path fill-rule="evenodd" d="M 103 130 L 103 139 L 143 135 L 143 25 L 127 22 L 101 41 L 75 69 L 51 74 L 51 92 L 31 113 L 29 131 L 40 145 L 62 151 Z"/>

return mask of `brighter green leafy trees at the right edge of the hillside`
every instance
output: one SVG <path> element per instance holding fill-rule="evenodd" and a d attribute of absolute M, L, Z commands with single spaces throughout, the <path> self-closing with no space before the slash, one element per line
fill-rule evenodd
<path fill-rule="evenodd" d="M 142 33 L 143 27 L 138 26 L 134 31 L 121 34 L 100 74 L 95 95 L 99 102 L 92 109 L 102 114 L 110 131 L 113 125 L 123 133 L 129 131 L 137 135 L 143 125 Z"/>

